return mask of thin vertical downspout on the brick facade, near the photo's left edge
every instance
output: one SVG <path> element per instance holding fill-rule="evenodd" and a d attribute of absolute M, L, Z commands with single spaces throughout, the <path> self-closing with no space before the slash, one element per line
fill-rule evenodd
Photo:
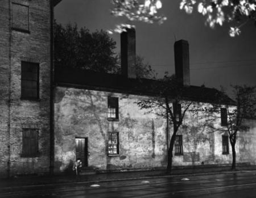
<path fill-rule="evenodd" d="M 9 79 L 8 79 L 8 161 L 7 161 L 7 176 L 11 176 L 11 0 L 9 0 Z"/>

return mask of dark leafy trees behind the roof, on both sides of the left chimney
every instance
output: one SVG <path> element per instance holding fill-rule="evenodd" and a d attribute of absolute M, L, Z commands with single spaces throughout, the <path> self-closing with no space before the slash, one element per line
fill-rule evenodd
<path fill-rule="evenodd" d="M 65 26 L 55 22 L 55 64 L 103 73 L 121 73 L 121 56 L 115 55 L 116 43 L 105 31 L 90 33 L 77 24 Z M 156 73 L 142 56 L 136 56 L 136 72 L 140 78 L 153 78 Z"/>

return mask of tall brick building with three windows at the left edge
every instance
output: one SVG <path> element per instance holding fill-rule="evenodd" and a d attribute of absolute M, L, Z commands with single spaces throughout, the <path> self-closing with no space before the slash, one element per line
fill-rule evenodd
<path fill-rule="evenodd" d="M 1 1 L 1 176 L 49 172 L 51 34 L 56 3 Z"/>

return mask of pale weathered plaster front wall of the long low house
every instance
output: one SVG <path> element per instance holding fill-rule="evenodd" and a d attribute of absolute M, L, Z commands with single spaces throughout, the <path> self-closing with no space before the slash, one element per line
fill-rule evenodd
<path fill-rule="evenodd" d="M 119 121 L 107 120 L 108 96 L 119 98 Z M 138 108 L 145 96 L 125 95 L 56 87 L 55 90 L 55 171 L 64 171 L 75 159 L 75 138 L 88 137 L 89 166 L 101 170 L 154 168 L 167 165 L 166 120 Z M 200 103 L 201 107 L 209 104 Z M 199 115 L 187 113 L 178 134 L 183 135 L 183 155 L 174 155 L 174 166 L 232 163 L 232 149 L 222 154 L 222 133 L 204 127 Z M 221 119 L 214 125 L 220 125 Z M 255 123 L 239 135 L 237 162 L 255 162 Z M 108 157 L 108 132 L 119 132 L 119 155 Z M 170 138 L 172 127 L 170 126 Z M 169 141 L 170 142 L 170 141 Z"/>

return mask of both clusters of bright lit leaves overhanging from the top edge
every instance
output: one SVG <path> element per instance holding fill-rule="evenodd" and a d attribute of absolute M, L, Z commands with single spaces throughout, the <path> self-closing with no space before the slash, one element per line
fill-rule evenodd
<path fill-rule="evenodd" d="M 197 11 L 205 16 L 205 23 L 210 27 L 216 24 L 222 26 L 224 22 L 238 22 L 239 26 L 230 27 L 229 35 L 234 37 L 240 35 L 240 27 L 248 20 L 256 23 L 256 2 L 253 0 L 180 0 L 180 9 L 188 14 Z M 146 23 L 163 23 L 167 18 L 158 15 L 162 8 L 160 0 L 113 0 L 112 14 L 114 16 L 125 16 L 130 21 L 138 20 Z M 112 33 L 122 32 L 130 24 L 118 24 Z"/>

